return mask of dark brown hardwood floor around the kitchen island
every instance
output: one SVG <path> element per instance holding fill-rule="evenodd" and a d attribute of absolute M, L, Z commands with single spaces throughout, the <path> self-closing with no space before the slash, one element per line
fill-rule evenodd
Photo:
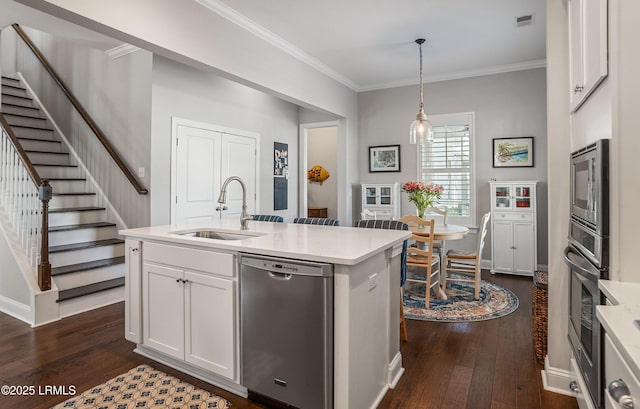
<path fill-rule="evenodd" d="M 484 278 L 515 292 L 518 310 L 474 323 L 407 320 L 406 370 L 379 408 L 577 409 L 575 399 L 542 389 L 531 335 L 531 279 Z M 262 408 L 135 354 L 123 334 L 122 303 L 36 329 L 0 313 L 0 385 L 36 388 L 35 396 L 0 394 L 0 408 L 49 408 L 68 397 L 39 394 L 39 386 L 73 385 L 81 393 L 141 363 L 223 396 L 234 408 Z"/>

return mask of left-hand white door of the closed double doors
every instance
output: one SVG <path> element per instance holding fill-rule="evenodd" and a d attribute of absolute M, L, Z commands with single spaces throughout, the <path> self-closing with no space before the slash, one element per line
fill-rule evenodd
<path fill-rule="evenodd" d="M 175 223 L 217 216 L 220 132 L 179 125 L 176 143 Z"/>

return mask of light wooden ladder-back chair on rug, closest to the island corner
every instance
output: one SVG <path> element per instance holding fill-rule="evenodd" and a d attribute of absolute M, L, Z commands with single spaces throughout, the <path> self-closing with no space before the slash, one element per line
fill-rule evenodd
<path fill-rule="evenodd" d="M 429 308 L 431 289 L 436 295 L 442 294 L 440 292 L 440 256 L 433 252 L 435 220 L 423 220 L 418 216 L 409 215 L 401 217 L 398 221 L 407 223 L 409 230 L 412 225 L 423 229 L 422 233 L 413 233 L 411 236 L 411 240 L 415 241 L 417 247 L 407 248 L 407 282 L 425 285 L 424 306 Z"/>

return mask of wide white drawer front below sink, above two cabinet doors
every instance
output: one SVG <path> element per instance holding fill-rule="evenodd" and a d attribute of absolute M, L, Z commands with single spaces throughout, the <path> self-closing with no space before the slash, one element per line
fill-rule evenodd
<path fill-rule="evenodd" d="M 229 253 L 144 243 L 142 256 L 144 261 L 169 264 L 222 276 L 234 277 L 236 272 L 235 257 Z"/>

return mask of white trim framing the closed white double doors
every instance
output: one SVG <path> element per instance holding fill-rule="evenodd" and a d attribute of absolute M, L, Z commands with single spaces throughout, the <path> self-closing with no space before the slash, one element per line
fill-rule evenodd
<path fill-rule="evenodd" d="M 194 121 L 191 119 L 179 118 L 172 116 L 171 117 L 171 189 L 170 189 L 170 202 L 171 202 L 171 223 L 176 222 L 176 195 L 177 186 L 176 186 L 176 165 L 177 165 L 177 157 L 176 157 L 176 142 L 178 140 L 178 127 L 179 126 L 187 126 L 190 128 L 200 128 L 211 132 L 219 132 L 225 133 L 229 135 L 238 135 L 244 136 L 247 138 L 255 139 L 256 141 L 256 185 L 255 185 L 255 212 L 257 214 L 260 213 L 260 134 L 257 132 L 251 131 L 243 131 L 240 129 L 227 128 L 222 125 L 210 124 L 207 122 Z M 220 183 L 222 184 L 222 180 Z"/>

